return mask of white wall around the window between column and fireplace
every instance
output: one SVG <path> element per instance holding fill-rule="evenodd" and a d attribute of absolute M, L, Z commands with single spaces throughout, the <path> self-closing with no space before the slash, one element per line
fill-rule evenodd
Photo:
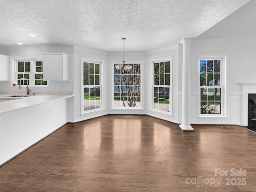
<path fill-rule="evenodd" d="M 240 124 L 242 90 L 239 83 L 256 83 L 255 39 L 193 40 L 190 45 L 191 124 Z M 226 56 L 226 115 L 199 117 L 198 55 Z"/>

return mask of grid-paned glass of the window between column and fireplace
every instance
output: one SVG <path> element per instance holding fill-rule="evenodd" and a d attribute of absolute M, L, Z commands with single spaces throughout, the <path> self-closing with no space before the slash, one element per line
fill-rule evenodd
<path fill-rule="evenodd" d="M 200 114 L 221 114 L 222 59 L 200 60 Z"/>

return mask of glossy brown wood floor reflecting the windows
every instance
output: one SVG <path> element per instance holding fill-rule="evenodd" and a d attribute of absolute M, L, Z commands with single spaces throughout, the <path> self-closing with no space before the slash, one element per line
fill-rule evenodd
<path fill-rule="evenodd" d="M 0 191 L 255 192 L 256 134 L 233 127 L 183 132 L 146 115 L 66 124 L 1 167 Z"/>

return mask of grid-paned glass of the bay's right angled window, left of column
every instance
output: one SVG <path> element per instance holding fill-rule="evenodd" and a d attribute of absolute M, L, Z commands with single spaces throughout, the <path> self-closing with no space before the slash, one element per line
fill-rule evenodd
<path fill-rule="evenodd" d="M 170 112 L 170 61 L 154 62 L 154 109 Z"/>

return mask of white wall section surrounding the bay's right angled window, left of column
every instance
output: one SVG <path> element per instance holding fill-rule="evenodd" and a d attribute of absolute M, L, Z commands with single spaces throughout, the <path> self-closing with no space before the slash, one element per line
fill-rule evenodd
<path fill-rule="evenodd" d="M 160 119 L 168 120 L 174 123 L 180 123 L 181 122 L 181 85 L 180 82 L 182 82 L 182 67 L 180 66 L 180 54 L 179 52 L 182 52 L 182 49 L 178 48 L 178 45 L 176 48 L 162 51 L 162 52 L 155 52 L 151 54 L 147 54 L 147 80 L 146 82 L 149 82 L 146 84 L 147 87 L 147 95 L 152 95 L 152 60 L 157 60 L 160 58 L 166 58 L 172 56 L 172 115 L 157 112 L 155 110 L 152 110 L 150 108 L 147 108 L 147 114 L 150 116 L 154 116 Z M 181 55 L 182 58 L 182 55 Z M 150 98 L 148 97 L 148 106 L 151 106 L 150 104 Z"/>

